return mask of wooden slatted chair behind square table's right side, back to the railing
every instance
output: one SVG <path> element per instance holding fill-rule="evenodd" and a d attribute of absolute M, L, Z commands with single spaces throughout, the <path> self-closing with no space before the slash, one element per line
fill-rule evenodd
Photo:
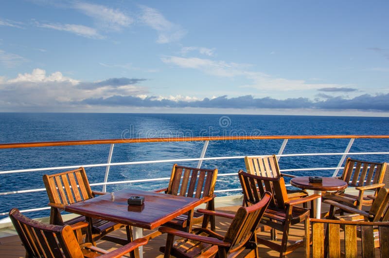
<path fill-rule="evenodd" d="M 174 164 L 168 187 L 156 190 L 155 192 L 203 199 L 203 203 L 207 203 L 206 209 L 213 211 L 215 209 L 215 195 L 213 191 L 216 178 L 217 168 L 204 169 Z M 188 218 L 191 220 L 188 220 Z M 215 230 L 214 217 L 204 216 L 204 214 L 199 212 L 194 212 L 192 218 L 188 214 L 183 214 L 163 224 L 163 226 L 169 226 L 179 230 L 184 229 L 189 232 L 192 224 L 201 223 L 203 219 L 205 220 L 205 224 L 211 221 L 211 229 Z"/>

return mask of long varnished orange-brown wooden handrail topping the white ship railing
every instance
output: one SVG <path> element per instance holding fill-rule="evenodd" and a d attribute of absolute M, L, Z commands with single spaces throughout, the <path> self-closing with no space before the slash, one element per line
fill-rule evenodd
<path fill-rule="evenodd" d="M 239 141 L 239 140 L 278 140 L 278 139 L 389 139 L 389 135 L 262 135 L 262 136 L 205 136 L 205 137 L 162 137 L 101 139 L 57 142 L 4 143 L 0 148 L 31 148 L 95 144 L 190 142 L 190 141 Z"/>

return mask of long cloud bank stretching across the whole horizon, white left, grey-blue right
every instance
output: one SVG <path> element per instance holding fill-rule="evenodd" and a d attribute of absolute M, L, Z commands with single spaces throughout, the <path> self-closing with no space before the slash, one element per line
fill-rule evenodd
<path fill-rule="evenodd" d="M 205 108 L 205 109 L 314 109 L 314 110 L 358 110 L 389 111 L 388 94 L 362 94 L 346 99 L 322 94 L 321 99 L 308 98 L 275 99 L 255 98 L 252 95 L 195 99 L 177 96 L 150 96 L 147 87 L 141 86 L 144 78 L 109 78 L 104 81 L 80 82 L 56 72 L 46 76 L 46 72 L 35 69 L 31 74 L 0 79 L 0 107 L 25 107 L 26 111 L 55 106 L 65 111 L 78 107 L 141 107 L 141 108 Z M 354 91 L 354 89 L 323 88 L 323 92 Z M 36 109 L 38 108 L 38 109 Z M 39 109 L 40 108 L 40 109 Z"/>

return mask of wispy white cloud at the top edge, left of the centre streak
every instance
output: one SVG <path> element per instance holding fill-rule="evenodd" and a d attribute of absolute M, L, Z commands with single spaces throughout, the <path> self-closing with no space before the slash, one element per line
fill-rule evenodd
<path fill-rule="evenodd" d="M 77 2 L 74 8 L 94 18 L 103 27 L 109 30 L 120 31 L 122 27 L 128 27 L 134 20 L 120 10 L 108 8 L 104 5 Z"/>

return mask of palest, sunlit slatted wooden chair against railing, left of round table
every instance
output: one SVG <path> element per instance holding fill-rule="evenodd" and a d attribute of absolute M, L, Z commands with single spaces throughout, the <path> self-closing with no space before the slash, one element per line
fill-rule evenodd
<path fill-rule="evenodd" d="M 276 155 L 271 156 L 246 156 L 245 157 L 246 169 L 249 174 L 261 176 L 261 177 L 290 177 L 295 176 L 289 174 L 283 174 L 278 166 L 278 160 Z M 304 190 L 291 190 L 286 189 L 288 199 L 298 199 L 301 197 L 308 196 L 308 193 Z M 306 208 L 306 206 L 305 206 Z"/>

